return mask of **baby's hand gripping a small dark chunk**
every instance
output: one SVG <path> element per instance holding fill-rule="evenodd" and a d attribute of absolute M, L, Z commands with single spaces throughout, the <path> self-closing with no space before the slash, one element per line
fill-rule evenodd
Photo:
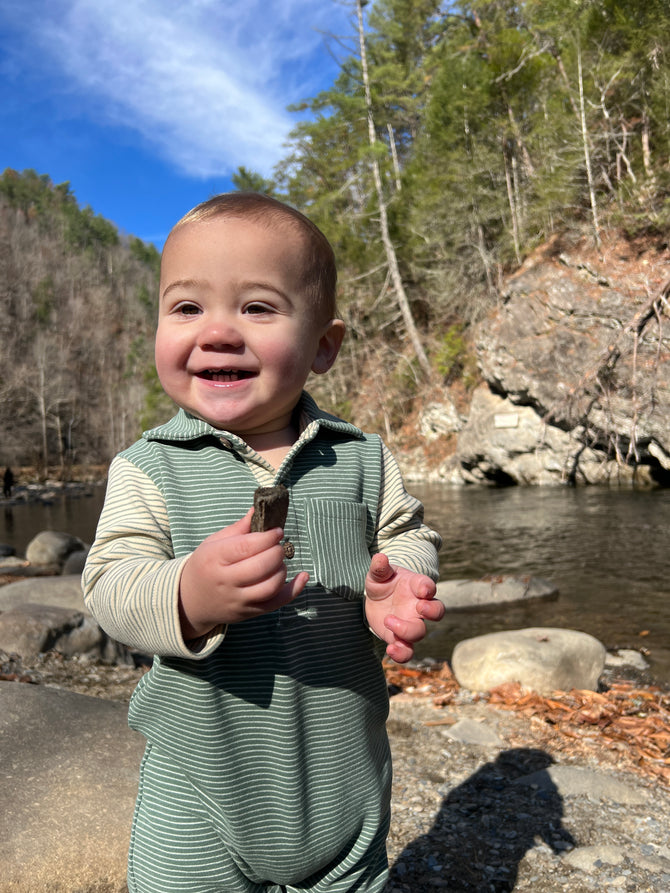
<path fill-rule="evenodd" d="M 251 533 L 252 514 L 250 509 L 235 524 L 208 536 L 184 564 L 179 615 L 185 639 L 275 611 L 305 588 L 306 573 L 286 582 L 284 532 Z"/>

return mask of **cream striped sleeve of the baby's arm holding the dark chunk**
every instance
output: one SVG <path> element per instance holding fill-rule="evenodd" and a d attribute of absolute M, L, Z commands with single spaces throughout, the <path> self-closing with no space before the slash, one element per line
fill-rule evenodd
<path fill-rule="evenodd" d="M 221 628 L 184 641 L 179 580 L 165 501 L 153 481 L 117 456 L 82 576 L 84 601 L 113 639 L 145 654 L 203 658 L 221 643 Z"/>

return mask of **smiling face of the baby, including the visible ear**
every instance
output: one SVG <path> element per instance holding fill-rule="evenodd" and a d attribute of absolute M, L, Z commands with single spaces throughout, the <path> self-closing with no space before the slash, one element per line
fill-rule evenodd
<path fill-rule="evenodd" d="M 325 372 L 333 323 L 303 285 L 293 228 L 239 218 L 187 223 L 163 252 L 156 368 L 179 406 L 249 441 L 286 429 L 311 369 Z M 338 330 L 339 331 L 339 330 Z"/>

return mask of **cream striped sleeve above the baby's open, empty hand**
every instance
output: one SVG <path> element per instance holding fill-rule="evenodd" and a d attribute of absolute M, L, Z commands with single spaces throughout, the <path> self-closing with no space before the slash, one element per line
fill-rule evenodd
<path fill-rule="evenodd" d="M 440 535 L 423 523 L 423 505 L 405 489 L 393 455 L 382 445 L 383 481 L 375 551 L 392 564 L 437 580 Z"/>

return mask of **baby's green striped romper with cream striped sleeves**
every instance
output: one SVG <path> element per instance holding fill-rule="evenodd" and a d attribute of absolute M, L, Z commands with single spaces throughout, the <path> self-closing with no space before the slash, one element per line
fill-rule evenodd
<path fill-rule="evenodd" d="M 85 597 L 111 635 L 157 655 L 130 706 L 147 738 L 131 893 L 384 887 L 388 699 L 363 586 L 380 551 L 385 448 L 303 404 L 306 428 L 275 482 L 290 490 L 289 575 L 310 581 L 291 604 L 203 641 L 180 640 L 179 571 L 247 511 L 263 460 L 180 411 L 110 471 Z M 389 541 L 405 538 L 434 575 L 436 535 L 420 511 L 407 516 L 411 499 L 391 512 Z"/>

